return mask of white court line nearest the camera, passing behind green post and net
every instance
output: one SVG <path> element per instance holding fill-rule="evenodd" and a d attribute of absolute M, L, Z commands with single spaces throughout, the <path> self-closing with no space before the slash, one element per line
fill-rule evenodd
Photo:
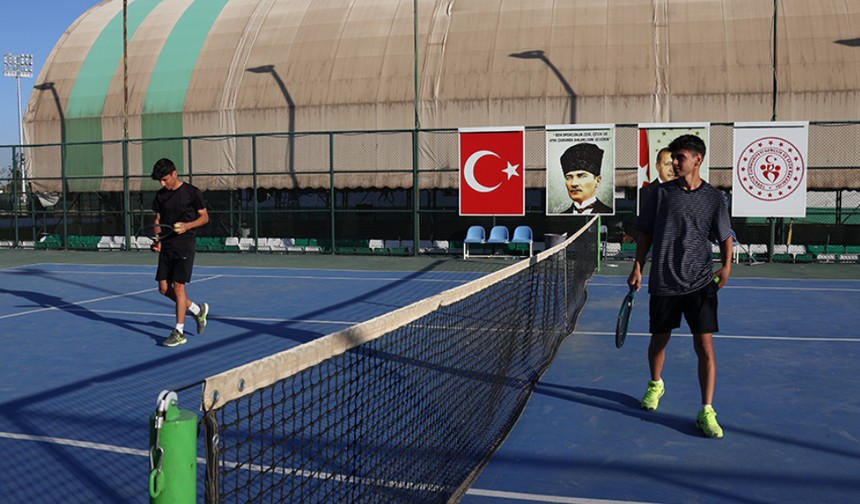
<path fill-rule="evenodd" d="M 93 443 L 89 441 L 78 441 L 75 439 L 64 439 L 50 436 L 34 436 L 31 434 L 18 434 L 14 432 L 0 432 L 0 438 L 4 439 L 14 439 L 17 441 L 35 441 L 38 443 L 48 443 L 55 444 L 61 446 L 70 446 L 73 448 L 84 448 L 87 450 L 98 450 L 105 451 L 111 453 L 119 453 L 122 455 L 134 455 L 137 457 L 149 457 L 148 450 L 140 450 L 136 448 L 126 448 L 123 446 L 115 446 L 104 443 Z M 198 464 L 206 464 L 206 459 L 204 457 L 197 457 Z M 227 465 L 234 466 L 238 465 L 235 463 L 227 463 Z M 272 469 L 270 467 L 264 468 L 263 466 L 254 464 L 247 467 L 248 470 L 252 471 L 260 471 L 263 469 Z M 324 478 L 331 479 L 335 478 L 340 481 L 347 481 L 350 483 L 361 483 L 361 484 L 370 484 L 370 485 L 384 485 L 387 487 L 395 487 L 395 488 L 412 488 L 412 489 L 422 489 L 422 490 L 436 490 L 437 486 L 431 484 L 423 484 L 423 485 L 415 485 L 413 483 L 407 482 L 397 482 L 397 481 L 384 481 L 384 480 L 376 480 L 373 478 L 355 478 L 351 476 L 337 476 L 328 473 L 321 473 L 316 471 L 304 471 L 304 470 L 296 470 L 296 469 L 280 469 L 277 468 L 277 472 L 279 473 L 288 473 L 296 476 L 306 476 L 312 478 Z M 519 492 L 502 492 L 497 490 L 481 490 L 477 488 L 470 488 L 466 491 L 467 495 L 475 495 L 479 497 L 491 497 L 491 498 L 499 498 L 499 499 L 519 499 L 525 501 L 532 502 L 549 502 L 552 504 L 650 504 L 645 502 L 633 502 L 633 501 L 617 501 L 617 500 L 603 500 L 603 499 L 586 499 L 586 498 L 578 498 L 578 497 L 561 497 L 554 495 L 540 495 L 540 494 L 526 494 Z"/>

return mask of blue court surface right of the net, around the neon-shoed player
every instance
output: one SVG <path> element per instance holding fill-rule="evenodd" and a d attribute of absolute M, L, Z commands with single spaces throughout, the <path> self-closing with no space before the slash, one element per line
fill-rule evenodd
<path fill-rule="evenodd" d="M 467 504 L 853 503 L 860 495 L 860 282 L 733 278 L 720 292 L 717 420 L 695 428 L 696 356 L 673 333 L 653 412 L 648 295 L 615 348 L 624 277 L 597 276 L 520 422 Z M 591 500 L 594 499 L 594 500 Z"/>

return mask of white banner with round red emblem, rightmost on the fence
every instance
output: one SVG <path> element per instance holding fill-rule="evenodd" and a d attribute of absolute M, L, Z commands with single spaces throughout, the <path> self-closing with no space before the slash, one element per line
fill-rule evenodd
<path fill-rule="evenodd" d="M 734 124 L 732 217 L 805 217 L 808 122 Z"/>

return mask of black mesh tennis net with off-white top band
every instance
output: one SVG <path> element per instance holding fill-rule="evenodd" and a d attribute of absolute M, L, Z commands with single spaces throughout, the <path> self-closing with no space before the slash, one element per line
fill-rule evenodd
<path fill-rule="evenodd" d="M 597 227 L 208 378 L 206 502 L 460 500 L 573 332 Z"/>

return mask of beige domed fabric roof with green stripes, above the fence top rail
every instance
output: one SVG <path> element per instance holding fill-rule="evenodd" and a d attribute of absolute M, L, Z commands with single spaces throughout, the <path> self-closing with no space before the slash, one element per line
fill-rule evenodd
<path fill-rule="evenodd" d="M 422 128 L 772 114 L 771 0 L 131 0 L 129 137 L 413 128 L 415 5 Z M 778 118 L 856 119 L 860 7 L 779 9 Z M 60 38 L 27 107 L 27 143 L 123 137 L 122 11 L 104 1 Z M 171 145 L 131 149 L 132 171 L 148 173 L 164 149 L 182 157 Z M 235 147 L 212 150 L 195 169 L 242 164 Z M 31 173 L 58 176 L 55 151 L 34 150 Z M 115 146 L 71 149 L 67 173 L 118 175 L 117 159 Z"/>

